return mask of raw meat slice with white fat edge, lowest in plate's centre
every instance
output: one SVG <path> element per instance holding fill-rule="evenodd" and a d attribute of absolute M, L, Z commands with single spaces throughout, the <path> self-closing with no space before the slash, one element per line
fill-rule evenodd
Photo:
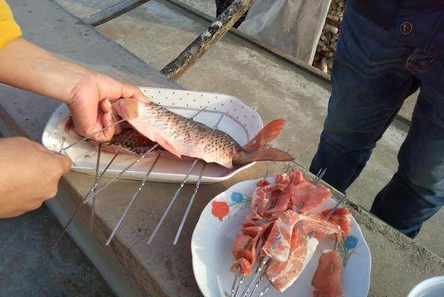
<path fill-rule="evenodd" d="M 289 258 L 285 262 L 273 262 L 266 270 L 266 276 L 273 287 L 283 292 L 295 282 L 305 269 L 318 246 L 318 240 L 308 240 L 307 233 L 295 227 L 291 235 Z"/>

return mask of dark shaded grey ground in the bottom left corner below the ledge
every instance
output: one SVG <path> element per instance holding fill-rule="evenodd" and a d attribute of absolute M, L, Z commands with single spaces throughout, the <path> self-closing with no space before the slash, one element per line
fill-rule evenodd
<path fill-rule="evenodd" d="M 0 220 L 0 296 L 112 297 L 103 277 L 46 206 Z"/>

